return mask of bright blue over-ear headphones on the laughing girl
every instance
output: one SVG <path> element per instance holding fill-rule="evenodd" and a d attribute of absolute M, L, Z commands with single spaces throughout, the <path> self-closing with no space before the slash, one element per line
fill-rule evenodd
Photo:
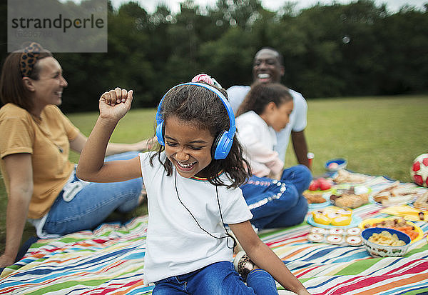
<path fill-rule="evenodd" d="M 165 99 L 166 94 L 169 93 L 169 91 L 175 89 L 178 86 L 183 85 L 195 85 L 204 87 L 205 89 L 208 89 L 210 91 L 213 91 L 219 98 L 220 101 L 223 102 L 223 105 L 226 108 L 226 111 L 228 111 L 229 116 L 229 131 L 221 131 L 220 134 L 214 139 L 213 147 L 211 148 L 211 154 L 213 156 L 213 159 L 219 160 L 219 159 L 225 159 L 226 156 L 228 156 L 230 149 L 232 148 L 233 144 L 233 136 L 235 135 L 236 126 L 235 126 L 235 115 L 233 114 L 232 107 L 229 104 L 229 101 L 225 98 L 225 96 L 216 88 L 213 86 L 210 86 L 208 84 L 202 84 L 202 83 L 183 83 L 178 84 L 177 86 L 174 86 L 170 90 L 168 90 L 165 95 L 162 97 L 161 102 L 158 106 L 158 111 L 156 111 L 156 137 L 158 138 L 159 144 L 165 146 L 165 142 L 163 141 L 163 116 L 162 116 L 162 101 Z"/>

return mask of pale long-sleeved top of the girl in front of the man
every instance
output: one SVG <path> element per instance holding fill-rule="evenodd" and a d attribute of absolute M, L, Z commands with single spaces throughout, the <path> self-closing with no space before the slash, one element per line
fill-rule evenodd
<path fill-rule="evenodd" d="M 248 111 L 236 118 L 238 140 L 245 149 L 245 159 L 250 161 L 255 176 L 264 177 L 272 171 L 279 173 L 284 162 L 273 147 L 277 143 L 275 130 L 268 126 L 255 111 Z"/>

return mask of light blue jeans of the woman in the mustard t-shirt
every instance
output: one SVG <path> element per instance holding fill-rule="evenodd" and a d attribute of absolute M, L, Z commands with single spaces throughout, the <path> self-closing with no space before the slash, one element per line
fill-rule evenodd
<path fill-rule="evenodd" d="M 106 157 L 106 161 L 127 160 L 138 156 L 132 151 Z M 79 181 L 75 176 L 74 181 Z M 48 234 L 70 234 L 83 229 L 93 229 L 113 211 L 128 212 L 138 206 L 143 189 L 143 179 L 131 179 L 112 183 L 90 183 L 74 196 L 64 201 L 58 195 L 49 210 L 44 230 Z"/>

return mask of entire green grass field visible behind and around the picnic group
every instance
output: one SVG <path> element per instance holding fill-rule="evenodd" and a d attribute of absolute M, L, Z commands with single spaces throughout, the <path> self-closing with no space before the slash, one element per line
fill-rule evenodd
<path fill-rule="evenodd" d="M 409 167 L 419 154 L 428 152 L 428 96 L 382 96 L 308 101 L 308 123 L 305 131 L 310 151 L 315 154 L 312 172 L 325 173 L 328 159 L 343 157 L 347 168 L 363 174 L 384 175 L 408 182 Z M 153 135 L 155 109 L 133 109 L 119 123 L 113 142 L 133 142 Z M 88 135 L 98 113 L 70 114 L 83 134 Z M 70 154 L 73 162 L 78 154 Z M 285 166 L 296 164 L 291 146 Z M 6 191 L 0 181 L 0 253 L 6 236 Z M 141 206 L 127 219 L 146 214 Z M 27 224 L 23 241 L 34 234 Z"/>

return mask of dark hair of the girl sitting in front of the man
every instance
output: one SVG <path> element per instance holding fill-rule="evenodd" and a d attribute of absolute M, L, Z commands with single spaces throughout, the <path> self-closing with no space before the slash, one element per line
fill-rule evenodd
<path fill-rule="evenodd" d="M 255 114 L 260 116 L 271 101 L 278 107 L 287 101 L 292 101 L 289 89 L 280 83 L 253 84 L 251 90 L 240 104 L 236 116 L 248 111 L 254 111 Z"/>

